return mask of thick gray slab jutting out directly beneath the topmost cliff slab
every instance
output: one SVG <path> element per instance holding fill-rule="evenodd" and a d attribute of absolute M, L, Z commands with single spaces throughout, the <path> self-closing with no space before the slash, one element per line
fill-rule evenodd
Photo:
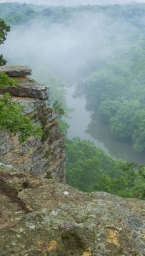
<path fill-rule="evenodd" d="M 17 97 L 31 97 L 35 99 L 49 99 L 50 91 L 47 86 L 37 83 L 28 77 L 18 77 L 16 79 L 20 86 L 9 86 L 0 88 L 0 93 L 9 92 Z"/>

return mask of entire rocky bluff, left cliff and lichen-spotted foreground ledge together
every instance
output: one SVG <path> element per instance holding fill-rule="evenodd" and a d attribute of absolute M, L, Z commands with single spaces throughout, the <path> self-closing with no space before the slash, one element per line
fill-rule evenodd
<path fill-rule="evenodd" d="M 1 70 L 20 81 L 6 91 L 41 124 L 44 136 L 20 144 L 17 134 L 0 133 L 0 255 L 144 256 L 144 201 L 60 183 L 64 139 L 47 104 L 48 88 L 26 76 L 29 68 Z"/>

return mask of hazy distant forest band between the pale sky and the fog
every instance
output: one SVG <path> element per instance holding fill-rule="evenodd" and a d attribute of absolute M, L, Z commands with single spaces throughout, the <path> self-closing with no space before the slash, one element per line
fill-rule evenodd
<path fill-rule="evenodd" d="M 131 22 L 139 28 L 142 25 L 141 17 L 145 14 L 145 4 L 114 4 L 106 6 L 37 6 L 35 4 L 20 4 L 20 3 L 1 3 L 0 16 L 11 24 L 20 24 L 30 19 L 45 19 L 50 23 L 66 22 L 66 20 L 74 19 L 85 13 L 96 15 L 105 14 L 113 20 L 124 20 Z"/>

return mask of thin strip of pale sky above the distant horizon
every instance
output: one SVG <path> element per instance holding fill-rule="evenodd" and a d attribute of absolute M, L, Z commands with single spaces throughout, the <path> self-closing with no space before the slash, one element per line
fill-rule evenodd
<path fill-rule="evenodd" d="M 58 5 L 78 5 L 78 4 L 122 4 L 122 3 L 145 3 L 145 0 L 0 0 L 0 3 L 29 3 L 29 4 L 48 4 Z"/>

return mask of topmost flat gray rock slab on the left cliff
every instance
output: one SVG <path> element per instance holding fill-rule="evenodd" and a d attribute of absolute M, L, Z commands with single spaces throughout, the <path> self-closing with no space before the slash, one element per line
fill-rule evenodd
<path fill-rule="evenodd" d="M 0 73 L 5 72 L 10 77 L 21 77 L 32 75 L 32 69 L 27 66 L 1 66 Z"/>

